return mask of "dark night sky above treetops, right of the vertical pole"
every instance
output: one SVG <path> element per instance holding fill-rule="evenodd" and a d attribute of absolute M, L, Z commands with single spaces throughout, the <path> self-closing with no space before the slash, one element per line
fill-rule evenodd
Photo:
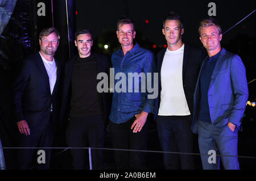
<path fill-rule="evenodd" d="M 135 22 L 135 28 L 145 39 L 156 45 L 166 44 L 162 35 L 162 19 L 170 11 L 175 11 L 183 18 L 185 33 L 183 39 L 195 45 L 201 45 L 197 31 L 200 20 L 208 18 L 208 4 L 216 3 L 215 18 L 225 32 L 234 24 L 255 10 L 254 0 L 245 1 L 76 1 L 76 27 L 89 28 L 95 37 L 104 32 L 115 33 L 117 19 L 128 15 Z M 149 20 L 146 24 L 145 21 Z M 255 12 L 222 38 L 222 44 L 228 43 L 238 34 L 255 37 Z"/>

